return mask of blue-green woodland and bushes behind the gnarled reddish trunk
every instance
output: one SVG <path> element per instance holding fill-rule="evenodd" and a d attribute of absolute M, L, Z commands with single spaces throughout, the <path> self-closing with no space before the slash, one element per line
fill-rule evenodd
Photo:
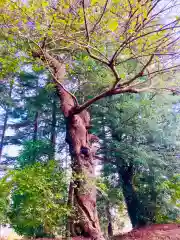
<path fill-rule="evenodd" d="M 91 64 L 92 69 L 83 67 L 78 76 L 98 76 L 100 85 L 104 70 Z M 71 81 L 79 70 L 69 76 Z M 97 83 L 88 87 L 88 96 L 77 87 L 79 99 L 88 98 L 93 85 Z M 92 133 L 100 139 L 94 145 L 98 212 L 107 236 L 121 232 L 128 216 L 133 227 L 179 222 L 179 100 L 172 94 L 123 94 L 91 107 Z M 66 205 L 70 155 L 47 72 L 25 66 L 10 76 L 9 84 L 1 84 L 1 109 L 2 176 L 16 169 L 0 183 L 1 224 L 10 223 L 28 236 L 46 236 L 46 228 L 64 234 L 71 214 Z M 16 157 L 11 156 L 12 146 L 17 147 Z"/>

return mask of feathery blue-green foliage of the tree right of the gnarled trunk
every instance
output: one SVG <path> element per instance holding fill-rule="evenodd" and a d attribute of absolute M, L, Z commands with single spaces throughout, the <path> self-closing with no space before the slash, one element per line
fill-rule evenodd
<path fill-rule="evenodd" d="M 113 97 L 92 108 L 93 132 L 102 140 L 102 174 L 111 183 L 108 189 L 123 188 L 124 174 L 140 203 L 136 214 L 147 223 L 159 222 L 157 209 L 167 211 L 169 221 L 177 221 L 178 217 L 177 214 L 172 218 L 168 209 L 177 212 L 176 206 L 165 204 L 159 191 L 165 176 L 171 178 L 180 172 L 176 156 L 180 122 L 173 110 L 177 102 L 178 98 L 172 96 L 134 94 Z M 128 171 L 129 166 L 133 166 L 132 172 Z M 107 197 L 106 185 L 99 187 Z"/>

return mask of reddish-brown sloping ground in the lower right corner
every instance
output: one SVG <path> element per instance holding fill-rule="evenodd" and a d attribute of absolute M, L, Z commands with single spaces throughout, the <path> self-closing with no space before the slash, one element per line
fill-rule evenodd
<path fill-rule="evenodd" d="M 180 240 L 180 224 L 155 224 L 132 230 L 123 235 L 116 235 L 112 240 Z M 50 239 L 39 239 L 50 240 Z M 62 240 L 62 239 L 56 239 Z M 63 239 L 65 240 L 65 239 Z M 72 240 L 92 240 L 90 238 L 74 237 Z"/>

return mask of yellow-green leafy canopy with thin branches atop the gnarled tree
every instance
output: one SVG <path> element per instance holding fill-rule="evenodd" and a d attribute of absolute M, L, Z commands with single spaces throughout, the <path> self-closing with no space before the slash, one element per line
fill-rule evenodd
<path fill-rule="evenodd" d="M 1 47 L 6 56 L 0 58 L 1 73 L 6 75 L 8 71 L 13 72 L 17 68 L 16 65 L 20 66 L 23 62 L 38 65 L 37 61 L 32 59 L 32 50 L 41 50 L 44 40 L 47 40 L 46 49 L 51 54 L 58 55 L 68 50 L 73 56 L 74 52 L 82 53 L 88 50 L 89 56 L 104 63 L 107 68 L 110 67 L 109 70 L 117 70 L 122 82 L 138 74 L 154 54 L 147 64 L 150 65 L 150 71 L 164 70 L 160 56 L 166 55 L 168 58 L 169 52 L 170 55 L 179 53 L 179 39 L 174 41 L 173 36 L 177 32 L 180 19 L 172 14 L 176 8 L 173 1 L 167 9 L 161 1 L 154 7 L 150 0 L 145 3 L 137 0 L 87 1 L 84 10 L 83 6 L 77 3 L 74 4 L 73 11 L 71 3 L 63 0 L 59 4 L 44 0 L 2 1 Z M 151 18 L 152 11 L 156 12 L 156 9 L 159 9 L 159 12 Z M 161 12 L 167 19 L 166 22 L 161 21 Z M 171 25 L 172 27 L 169 27 Z M 19 55 L 18 58 L 15 54 Z M 124 64 L 134 60 L 137 68 L 127 75 L 122 68 Z M 149 72 L 146 68 L 145 75 Z M 166 72 L 160 71 L 164 78 L 153 76 L 154 82 L 170 86 L 172 81 L 167 81 L 164 74 Z M 115 76 L 114 73 L 114 70 L 111 71 L 111 76 Z M 170 74 L 173 75 L 173 72 Z M 141 77 L 137 75 L 133 82 L 138 86 L 143 82 L 143 86 L 147 87 L 148 79 Z"/>

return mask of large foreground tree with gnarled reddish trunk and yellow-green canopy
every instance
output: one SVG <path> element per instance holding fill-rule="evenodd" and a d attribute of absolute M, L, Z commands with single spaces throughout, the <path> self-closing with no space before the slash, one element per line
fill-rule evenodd
<path fill-rule="evenodd" d="M 3 47 L 10 54 L 1 59 L 5 74 L 16 68 L 14 54 L 25 52 L 28 61 L 40 59 L 52 74 L 66 122 L 74 176 L 74 205 L 78 222 L 75 232 L 91 239 L 104 239 L 99 227 L 94 185 L 94 164 L 87 108 L 97 100 L 122 93 L 138 93 L 157 87 L 176 92 L 169 79 L 178 70 L 179 16 L 169 14 L 178 2 L 155 1 L 18 1 L 1 2 Z M 35 16 L 35 17 L 34 17 Z M 166 21 L 162 21 L 166 17 Z M 173 18 L 173 20 L 172 20 Z M 16 34 L 14 34 L 16 33 Z M 18 36 L 17 36 L 18 35 Z M 112 78 L 108 88 L 78 103 L 65 88 L 66 64 L 74 53 L 86 52 L 97 64 L 108 68 Z M 61 54 L 64 54 L 64 58 Z M 11 58 L 12 56 L 12 58 Z M 128 75 L 121 71 L 129 61 L 138 62 Z M 13 62 L 11 67 L 7 63 Z M 172 72 L 173 71 L 173 72 Z M 171 76 L 167 76 L 167 72 Z M 159 76 L 161 74 L 161 77 Z M 165 85 L 161 87 L 159 80 Z M 161 82 L 162 82 L 161 81 Z M 80 178 L 81 176 L 81 178 Z M 77 233 L 78 234 L 78 233 Z"/>

